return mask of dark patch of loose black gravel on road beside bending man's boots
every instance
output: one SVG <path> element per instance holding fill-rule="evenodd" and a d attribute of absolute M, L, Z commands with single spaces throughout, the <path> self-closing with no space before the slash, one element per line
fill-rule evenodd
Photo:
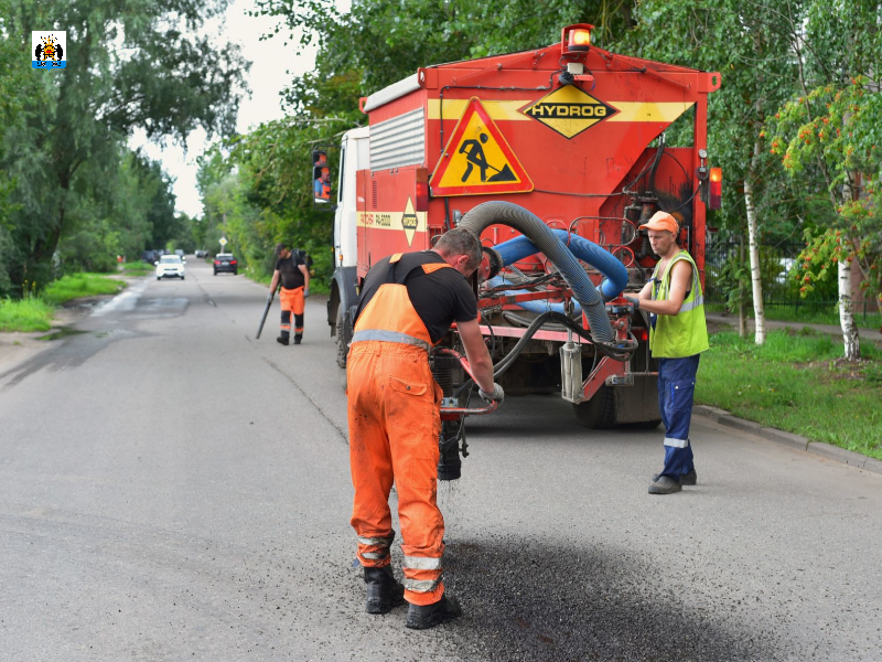
<path fill-rule="evenodd" d="M 702 605 L 710 587 L 663 585 L 632 551 L 474 540 L 448 545 L 444 565 L 465 611 L 448 629 L 454 659 L 734 662 L 783 652 L 771 632 L 749 631 L 738 613 L 746 605 Z M 730 601 L 723 624 L 720 602 Z"/>

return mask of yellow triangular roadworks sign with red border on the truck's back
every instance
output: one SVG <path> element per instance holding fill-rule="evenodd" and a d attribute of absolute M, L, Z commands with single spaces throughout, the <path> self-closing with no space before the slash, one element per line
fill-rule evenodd
<path fill-rule="evenodd" d="M 477 97 L 469 100 L 429 185 L 432 195 L 533 191 L 527 171 Z"/>

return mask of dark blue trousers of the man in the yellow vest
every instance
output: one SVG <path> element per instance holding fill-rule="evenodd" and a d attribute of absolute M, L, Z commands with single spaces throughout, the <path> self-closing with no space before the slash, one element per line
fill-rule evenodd
<path fill-rule="evenodd" d="M 692 399 L 700 354 L 658 360 L 658 410 L 665 424 L 665 468 L 662 476 L 675 480 L 695 469 L 689 444 Z"/>

